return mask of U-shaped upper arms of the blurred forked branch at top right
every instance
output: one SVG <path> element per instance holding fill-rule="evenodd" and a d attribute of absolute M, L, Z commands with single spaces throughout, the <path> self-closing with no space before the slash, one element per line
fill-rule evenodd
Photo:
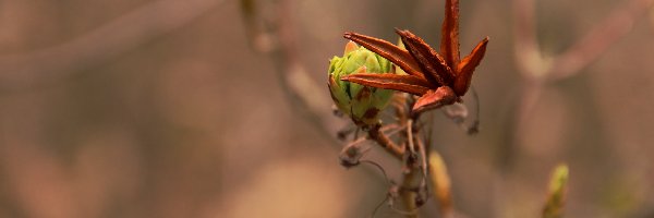
<path fill-rule="evenodd" d="M 606 52 L 627 35 L 633 23 L 654 4 L 654 0 L 631 0 L 615 9 L 584 37 L 555 57 L 544 58 L 535 35 L 534 0 L 513 1 L 516 62 L 528 78 L 556 81 L 572 76 Z M 548 61 L 552 59 L 552 61 Z M 541 78 L 545 77 L 545 78 Z"/>

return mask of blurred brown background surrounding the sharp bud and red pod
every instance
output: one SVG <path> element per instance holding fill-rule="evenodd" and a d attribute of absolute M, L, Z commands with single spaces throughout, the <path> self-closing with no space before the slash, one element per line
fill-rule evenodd
<path fill-rule="evenodd" d="M 481 132 L 434 112 L 459 213 L 540 217 L 567 162 L 568 217 L 654 217 L 651 2 L 461 2 L 462 52 L 491 43 L 473 78 Z M 521 3 L 535 11 L 535 62 L 516 34 Z M 348 121 L 331 114 L 327 60 L 346 31 L 438 45 L 443 4 L 0 1 L 0 217 L 370 216 L 388 186 L 338 164 Z M 579 41 L 592 61 L 534 76 Z"/>

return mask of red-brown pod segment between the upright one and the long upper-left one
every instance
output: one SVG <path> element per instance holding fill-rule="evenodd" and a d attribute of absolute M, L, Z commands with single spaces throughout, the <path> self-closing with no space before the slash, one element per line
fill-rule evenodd
<path fill-rule="evenodd" d="M 422 38 L 415 36 L 409 31 L 400 31 L 396 28 L 396 33 L 400 35 L 404 47 L 409 53 L 415 59 L 417 65 L 422 70 L 427 80 L 437 86 L 448 85 L 453 80 L 451 69 L 429 45 Z"/>

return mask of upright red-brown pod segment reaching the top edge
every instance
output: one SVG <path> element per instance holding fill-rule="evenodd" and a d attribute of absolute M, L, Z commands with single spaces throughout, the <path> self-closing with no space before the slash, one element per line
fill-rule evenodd
<path fill-rule="evenodd" d="M 459 64 L 459 0 L 445 0 L 445 20 L 443 21 L 440 53 L 447 64 Z"/>

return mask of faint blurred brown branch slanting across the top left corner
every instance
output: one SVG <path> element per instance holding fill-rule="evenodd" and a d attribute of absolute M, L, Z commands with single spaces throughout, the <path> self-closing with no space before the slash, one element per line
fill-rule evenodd
<path fill-rule="evenodd" d="M 50 83 L 179 28 L 223 0 L 159 0 L 71 41 L 28 53 L 0 57 L 0 90 Z"/>

